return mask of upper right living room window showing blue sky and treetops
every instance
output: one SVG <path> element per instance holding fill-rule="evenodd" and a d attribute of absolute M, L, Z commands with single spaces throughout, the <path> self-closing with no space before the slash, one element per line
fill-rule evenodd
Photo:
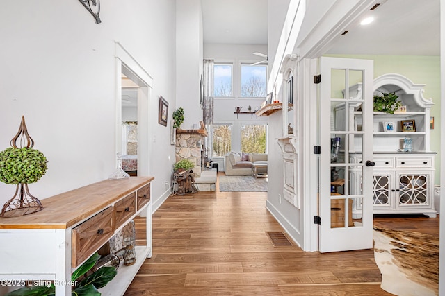
<path fill-rule="evenodd" d="M 266 96 L 265 65 L 241 65 L 241 96 L 245 98 Z"/>

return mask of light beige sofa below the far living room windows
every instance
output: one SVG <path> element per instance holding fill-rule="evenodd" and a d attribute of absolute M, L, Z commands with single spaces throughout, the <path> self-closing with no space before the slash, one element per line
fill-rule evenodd
<path fill-rule="evenodd" d="M 266 164 L 266 153 L 227 153 L 224 157 L 224 173 L 226 175 L 252 175 L 252 164 Z M 267 168 L 260 168 L 267 173 Z"/>

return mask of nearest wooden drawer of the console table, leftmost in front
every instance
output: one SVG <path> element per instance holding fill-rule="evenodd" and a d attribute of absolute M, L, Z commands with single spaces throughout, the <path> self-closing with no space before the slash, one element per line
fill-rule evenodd
<path fill-rule="evenodd" d="M 101 245 L 113 236 L 113 207 L 74 227 L 72 238 L 72 267 L 88 259 Z"/>

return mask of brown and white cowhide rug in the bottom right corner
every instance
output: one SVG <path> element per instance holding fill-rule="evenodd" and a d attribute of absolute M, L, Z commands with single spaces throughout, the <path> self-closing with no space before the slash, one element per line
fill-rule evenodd
<path fill-rule="evenodd" d="M 394 295 L 439 293 L 439 238 L 374 227 L 374 255 L 382 289 Z"/>

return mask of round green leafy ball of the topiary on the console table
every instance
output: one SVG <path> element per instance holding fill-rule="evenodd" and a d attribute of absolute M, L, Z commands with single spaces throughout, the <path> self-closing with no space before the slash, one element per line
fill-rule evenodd
<path fill-rule="evenodd" d="M 30 184 L 47 172 L 47 157 L 33 148 L 6 148 L 0 152 L 0 181 Z"/>

